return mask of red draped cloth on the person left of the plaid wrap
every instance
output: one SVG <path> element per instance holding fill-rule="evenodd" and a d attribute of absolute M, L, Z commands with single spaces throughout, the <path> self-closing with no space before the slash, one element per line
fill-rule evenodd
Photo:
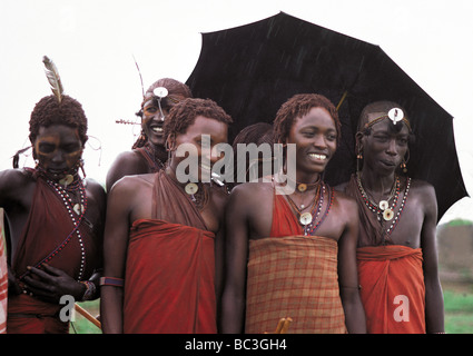
<path fill-rule="evenodd" d="M 152 219 L 132 224 L 124 332 L 216 333 L 215 235 L 164 170 L 156 174 Z"/>

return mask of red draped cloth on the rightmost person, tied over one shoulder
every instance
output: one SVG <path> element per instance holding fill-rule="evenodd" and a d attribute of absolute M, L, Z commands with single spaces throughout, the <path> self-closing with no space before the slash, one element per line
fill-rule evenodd
<path fill-rule="evenodd" d="M 352 176 L 346 194 L 359 211 L 357 249 L 361 298 L 369 334 L 424 334 L 425 285 L 422 249 L 383 240 L 383 229 Z M 401 201 L 400 197 L 400 201 Z M 398 202 L 400 204 L 400 202 Z M 396 212 L 396 211 L 395 211 Z M 383 245 L 387 244 L 387 245 Z"/>

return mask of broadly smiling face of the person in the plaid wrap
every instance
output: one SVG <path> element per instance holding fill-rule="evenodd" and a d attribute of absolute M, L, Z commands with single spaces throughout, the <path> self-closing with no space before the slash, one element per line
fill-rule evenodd
<path fill-rule="evenodd" d="M 298 172 L 321 174 L 336 151 L 335 121 L 324 108 L 312 108 L 294 121 L 287 144 L 296 144 Z"/>

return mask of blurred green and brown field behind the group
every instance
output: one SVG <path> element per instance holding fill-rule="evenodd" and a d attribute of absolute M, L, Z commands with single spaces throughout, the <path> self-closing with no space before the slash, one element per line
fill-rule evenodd
<path fill-rule="evenodd" d="M 452 220 L 438 226 L 437 245 L 445 332 L 473 334 L 473 222 Z M 93 316 L 99 315 L 99 300 L 80 306 Z M 101 334 L 101 330 L 76 313 L 70 333 Z"/>

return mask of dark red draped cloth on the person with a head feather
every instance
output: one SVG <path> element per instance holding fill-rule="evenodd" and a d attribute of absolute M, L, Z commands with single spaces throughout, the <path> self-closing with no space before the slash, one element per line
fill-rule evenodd
<path fill-rule="evenodd" d="M 20 236 L 12 260 L 17 278 L 27 273 L 27 266 L 37 266 L 51 251 L 56 250 L 73 230 L 73 224 L 62 199 L 42 177 L 38 177 L 28 221 Z M 100 246 L 96 246 L 90 227 L 83 221 L 79 226 L 86 253 L 85 274 L 88 279 L 100 258 Z M 81 248 L 77 234 L 48 261 L 48 265 L 62 269 L 78 278 L 81 265 Z M 20 279 L 21 285 L 21 279 Z M 9 334 L 56 334 L 68 333 L 68 323 L 59 319 L 59 304 L 46 303 L 22 294 L 8 299 L 7 333 Z"/>

